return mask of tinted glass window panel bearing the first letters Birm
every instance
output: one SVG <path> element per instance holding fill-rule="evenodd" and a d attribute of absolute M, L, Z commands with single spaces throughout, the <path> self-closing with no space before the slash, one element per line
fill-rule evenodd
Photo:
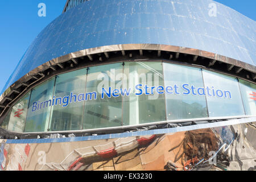
<path fill-rule="evenodd" d="M 55 78 L 32 89 L 24 132 L 44 132 L 48 129 Z"/>

